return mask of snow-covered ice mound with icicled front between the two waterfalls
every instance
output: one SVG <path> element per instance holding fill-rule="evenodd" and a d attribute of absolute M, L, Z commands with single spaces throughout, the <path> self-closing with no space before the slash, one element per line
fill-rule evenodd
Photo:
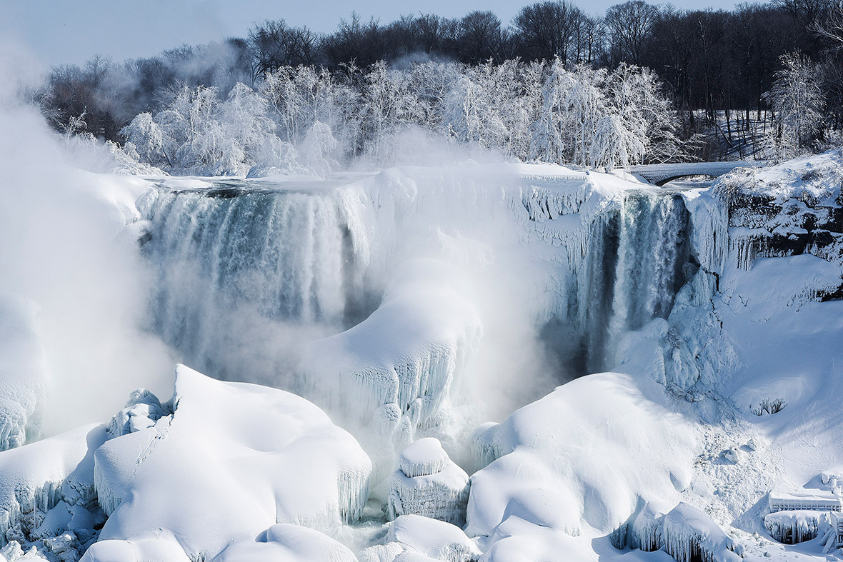
<path fill-rule="evenodd" d="M 367 428 L 381 473 L 416 432 L 453 425 L 452 394 L 459 403 L 459 375 L 482 333 L 469 293 L 443 261 L 406 262 L 366 320 L 309 348 L 303 394 Z"/>

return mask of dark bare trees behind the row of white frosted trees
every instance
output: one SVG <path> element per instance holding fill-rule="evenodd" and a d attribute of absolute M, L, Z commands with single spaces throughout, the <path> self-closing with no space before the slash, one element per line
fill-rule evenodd
<path fill-rule="evenodd" d="M 768 128 L 772 136 L 787 136 L 771 93 L 794 61 L 821 89 L 813 109 L 821 104 L 823 115 L 821 126 L 797 135 L 799 147 L 840 129 L 840 13 L 830 0 L 772 0 L 731 11 L 631 0 L 597 16 L 561 0 L 526 6 L 509 24 L 487 11 L 457 19 L 409 15 L 389 24 L 352 14 L 333 33 L 316 34 L 272 19 L 244 38 L 182 45 L 119 64 L 97 56 L 82 67 L 56 67 L 38 100 L 56 127 L 81 122 L 84 132 L 121 143 L 136 115 L 158 114 L 184 88 L 214 88 L 224 98 L 236 84 L 260 91 L 266 77 L 300 66 L 343 83 L 353 82 L 349 68 L 368 74 L 380 62 L 410 73 L 425 62 L 492 69 L 517 60 L 524 67 L 545 62 L 609 74 L 625 65 L 649 68 L 663 83 L 686 156 L 751 158 L 766 150 L 759 139 L 771 137 Z"/>

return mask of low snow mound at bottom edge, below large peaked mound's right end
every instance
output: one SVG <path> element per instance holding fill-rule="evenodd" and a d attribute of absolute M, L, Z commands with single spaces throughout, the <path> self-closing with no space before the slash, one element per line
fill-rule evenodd
<path fill-rule="evenodd" d="M 213 562 L 357 562 L 351 550 L 325 534 L 299 525 L 279 524 L 254 542 L 228 546 Z"/>

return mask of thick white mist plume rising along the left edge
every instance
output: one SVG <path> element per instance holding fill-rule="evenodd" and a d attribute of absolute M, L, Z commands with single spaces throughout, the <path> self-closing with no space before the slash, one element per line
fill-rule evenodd
<path fill-rule="evenodd" d="M 138 386 L 165 389 L 170 360 L 142 334 L 147 276 L 126 213 L 143 182 L 73 169 L 62 143 L 17 95 L 37 78 L 25 55 L 0 46 L 0 290 L 40 306 L 51 372 L 46 432 L 105 420 Z"/>

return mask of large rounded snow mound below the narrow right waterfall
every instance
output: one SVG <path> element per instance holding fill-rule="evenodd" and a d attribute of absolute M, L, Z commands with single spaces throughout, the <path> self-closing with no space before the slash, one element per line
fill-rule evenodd
<path fill-rule="evenodd" d="M 466 533 L 487 554 L 501 553 L 490 560 L 522 543 L 533 544 L 525 553 L 562 560 L 548 553 L 565 536 L 619 527 L 642 497 L 678 501 L 693 474 L 696 436 L 689 420 L 658 402 L 661 388 L 619 373 L 589 375 L 481 428 L 474 447 L 488 466 L 471 476 Z"/>

